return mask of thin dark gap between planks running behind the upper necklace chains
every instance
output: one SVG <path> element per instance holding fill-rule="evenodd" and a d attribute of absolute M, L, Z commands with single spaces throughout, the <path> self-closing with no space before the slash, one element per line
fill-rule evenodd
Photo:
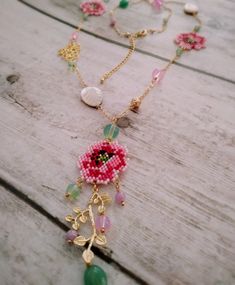
<path fill-rule="evenodd" d="M 65 25 L 67 25 L 67 26 L 70 26 L 70 27 L 72 27 L 72 28 L 75 28 L 75 29 L 77 28 L 76 25 L 73 25 L 73 24 L 71 24 L 71 23 L 69 23 L 69 22 L 67 22 L 67 21 L 65 21 L 65 20 L 62 20 L 62 19 L 60 19 L 60 18 L 58 18 L 58 17 L 56 17 L 56 16 L 54 16 L 54 15 L 52 15 L 52 14 L 50 14 L 50 13 L 44 11 L 44 10 L 42 10 L 42 9 L 39 9 L 39 8 L 33 6 L 32 4 L 30 4 L 30 3 L 26 2 L 26 1 L 24 1 L 24 0 L 17 0 L 17 1 L 20 2 L 21 4 L 27 6 L 27 7 L 29 7 L 29 8 L 31 8 L 31 9 L 35 10 L 35 11 L 37 11 L 37 12 L 39 12 L 39 13 L 41 13 L 41 14 L 47 16 L 47 17 L 50 17 L 51 19 L 54 19 L 54 20 L 56 20 L 56 21 L 58 21 L 58 22 L 60 22 L 60 23 L 63 23 L 63 24 L 65 24 Z M 104 41 L 106 41 L 106 42 L 109 42 L 109 43 L 112 43 L 112 44 L 115 44 L 115 45 L 118 45 L 118 46 L 121 46 L 121 47 L 124 47 L 124 48 L 129 48 L 128 45 L 125 45 L 125 44 L 122 44 L 122 43 L 120 43 L 120 42 L 117 42 L 117 41 L 111 40 L 111 39 L 109 39 L 109 38 L 103 37 L 103 36 L 101 36 L 101 35 L 95 34 L 95 33 L 93 33 L 93 32 L 90 32 L 90 31 L 86 30 L 86 29 L 81 29 L 81 31 L 84 32 L 84 33 L 86 33 L 86 34 L 88 34 L 88 35 L 90 35 L 90 36 L 93 36 L 93 37 L 99 38 L 99 39 L 101 39 L 101 40 L 104 40 Z M 151 52 L 143 51 L 143 50 L 138 49 L 138 48 L 136 48 L 135 51 L 136 51 L 136 52 L 139 52 L 139 53 L 141 53 L 141 54 L 145 54 L 145 55 L 148 55 L 148 56 L 151 56 L 151 57 L 154 57 L 154 58 L 157 58 L 157 59 L 166 61 L 166 62 L 169 61 L 168 58 L 162 57 L 162 56 L 160 56 L 160 55 L 153 54 L 153 53 L 151 53 Z M 211 76 L 211 77 L 213 77 L 213 78 L 217 78 L 217 79 L 223 80 L 223 81 L 225 81 L 225 82 L 229 82 L 229 83 L 235 84 L 235 81 L 234 81 L 234 80 L 225 78 L 225 77 L 223 77 L 223 76 L 219 76 L 219 75 L 216 75 L 216 74 L 207 72 L 207 71 L 203 71 L 203 70 L 200 70 L 200 69 L 197 69 L 197 68 L 194 68 L 194 67 L 191 67 L 191 66 L 182 64 L 182 63 L 180 63 L 180 62 L 175 62 L 174 64 L 175 64 L 175 65 L 178 65 L 178 66 L 181 66 L 181 67 L 183 67 L 183 68 L 186 68 L 186 69 L 189 69 L 189 70 L 192 70 L 192 71 L 195 71 L 195 72 L 198 72 L 198 73 L 207 75 L 207 76 Z"/>

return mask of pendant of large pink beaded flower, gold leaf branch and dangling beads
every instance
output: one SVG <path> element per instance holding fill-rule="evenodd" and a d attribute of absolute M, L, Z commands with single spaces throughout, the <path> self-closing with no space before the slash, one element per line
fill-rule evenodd
<path fill-rule="evenodd" d="M 116 190 L 115 201 L 124 205 L 125 193 L 120 190 L 120 174 L 127 168 L 127 148 L 120 145 L 115 138 L 119 128 L 109 124 L 104 128 L 104 139 L 88 147 L 88 150 L 79 156 L 77 166 L 80 177 L 76 183 L 70 183 L 65 196 L 74 201 L 80 195 L 83 185 L 91 185 L 92 193 L 87 207 L 75 207 L 72 215 L 67 215 L 65 220 L 71 224 L 72 229 L 66 235 L 66 241 L 78 246 L 88 245 L 83 252 L 86 264 L 91 264 L 94 254 L 91 247 L 96 244 L 106 244 L 106 233 L 111 228 L 110 218 L 106 215 L 106 207 L 112 199 L 109 193 L 102 192 L 104 184 L 113 184 Z M 90 223 L 92 232 L 89 237 L 81 235 L 82 224 Z"/>

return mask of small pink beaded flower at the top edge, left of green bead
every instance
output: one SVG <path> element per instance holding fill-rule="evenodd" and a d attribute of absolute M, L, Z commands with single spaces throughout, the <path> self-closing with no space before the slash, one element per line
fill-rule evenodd
<path fill-rule="evenodd" d="M 86 15 L 101 16 L 106 11 L 105 4 L 101 0 L 88 0 L 80 4 L 80 9 Z"/>

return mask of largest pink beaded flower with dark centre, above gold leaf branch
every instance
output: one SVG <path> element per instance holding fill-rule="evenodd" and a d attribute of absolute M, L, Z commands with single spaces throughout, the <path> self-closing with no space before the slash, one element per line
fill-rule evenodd
<path fill-rule="evenodd" d="M 78 159 L 81 176 L 87 183 L 107 184 L 127 167 L 127 149 L 103 140 L 88 148 Z"/>

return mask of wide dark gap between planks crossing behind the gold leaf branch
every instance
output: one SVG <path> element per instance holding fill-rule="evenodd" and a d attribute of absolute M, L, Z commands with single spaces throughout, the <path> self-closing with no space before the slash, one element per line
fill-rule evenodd
<path fill-rule="evenodd" d="M 51 215 L 49 212 L 47 212 L 41 205 L 30 199 L 26 194 L 15 188 L 13 185 L 11 185 L 9 182 L 5 181 L 0 177 L 0 185 L 3 186 L 8 192 L 15 195 L 17 198 L 25 202 L 27 205 L 29 205 L 31 208 L 39 212 L 41 215 L 46 217 L 50 222 L 52 222 L 54 225 L 58 226 L 63 231 L 67 232 L 70 228 L 62 223 L 58 218 Z M 126 269 L 124 266 L 122 266 L 119 262 L 115 261 L 111 257 L 105 255 L 99 248 L 92 247 L 92 250 L 94 251 L 95 255 L 99 257 L 100 259 L 107 262 L 109 265 L 115 267 L 119 271 L 121 271 L 123 274 L 127 275 L 128 277 L 132 278 L 134 281 L 136 281 L 137 284 L 141 285 L 149 285 L 146 281 L 141 279 L 139 276 L 137 276 L 135 273 L 131 272 L 130 270 Z"/>

